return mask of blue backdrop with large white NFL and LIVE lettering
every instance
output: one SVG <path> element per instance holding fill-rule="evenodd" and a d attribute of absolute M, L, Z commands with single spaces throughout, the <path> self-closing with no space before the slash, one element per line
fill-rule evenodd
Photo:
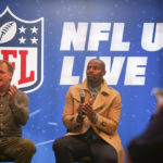
<path fill-rule="evenodd" d="M 29 72 L 26 76 L 36 82 L 21 84 L 15 79 L 29 98 L 30 118 L 23 136 L 37 147 L 33 163 L 54 162 L 52 142 L 65 134 L 65 93 L 71 85 L 83 80 L 90 58 L 105 62 L 105 79 L 121 92 L 118 133 L 124 148 L 145 129 L 155 108 L 152 89 L 163 85 L 162 9 L 162 0 L 0 1 L 0 58 L 8 49 L 18 53 L 18 48 L 28 48 L 29 54 L 33 48 L 37 50 L 26 60 L 9 58 L 15 62 L 17 76 L 20 62 L 35 72 L 35 77 Z M 13 37 L 9 40 L 5 34 L 2 38 L 2 32 L 11 21 L 17 26 L 13 27 L 15 35 L 7 34 Z M 21 30 L 22 26 L 26 30 Z M 32 34 L 27 28 L 33 28 Z M 33 40 L 27 40 L 30 35 Z"/>

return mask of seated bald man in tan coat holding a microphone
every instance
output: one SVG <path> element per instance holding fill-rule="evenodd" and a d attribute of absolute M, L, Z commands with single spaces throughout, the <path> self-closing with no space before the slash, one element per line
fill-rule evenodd
<path fill-rule="evenodd" d="M 63 112 L 67 128 L 53 143 L 57 163 L 73 163 L 83 156 L 93 162 L 124 163 L 117 134 L 121 96 L 103 79 L 105 65 L 93 59 L 87 66 L 87 79 L 70 87 Z"/>

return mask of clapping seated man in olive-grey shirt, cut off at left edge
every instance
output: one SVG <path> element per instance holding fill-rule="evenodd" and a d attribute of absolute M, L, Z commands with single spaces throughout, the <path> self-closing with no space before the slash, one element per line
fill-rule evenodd
<path fill-rule="evenodd" d="M 36 148 L 30 140 L 22 138 L 21 128 L 28 120 L 28 98 L 10 85 L 12 77 L 12 64 L 0 60 L 0 155 L 16 163 L 30 163 Z"/>

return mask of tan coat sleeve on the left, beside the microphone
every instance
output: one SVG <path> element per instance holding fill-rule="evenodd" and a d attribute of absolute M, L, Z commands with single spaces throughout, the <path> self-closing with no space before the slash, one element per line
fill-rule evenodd
<path fill-rule="evenodd" d="M 78 113 L 75 112 L 75 108 L 74 108 L 75 99 L 73 98 L 71 89 L 72 88 L 68 89 L 65 97 L 65 105 L 64 105 L 62 121 L 67 129 L 73 130 L 76 127 L 82 126 L 82 124 L 76 121 Z"/>

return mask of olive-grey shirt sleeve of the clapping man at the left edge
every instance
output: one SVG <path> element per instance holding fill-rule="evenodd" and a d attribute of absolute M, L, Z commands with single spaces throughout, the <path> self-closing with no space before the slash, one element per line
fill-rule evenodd
<path fill-rule="evenodd" d="M 25 125 L 28 120 L 28 97 L 23 91 L 15 95 L 14 103 L 10 105 L 17 124 Z"/>

